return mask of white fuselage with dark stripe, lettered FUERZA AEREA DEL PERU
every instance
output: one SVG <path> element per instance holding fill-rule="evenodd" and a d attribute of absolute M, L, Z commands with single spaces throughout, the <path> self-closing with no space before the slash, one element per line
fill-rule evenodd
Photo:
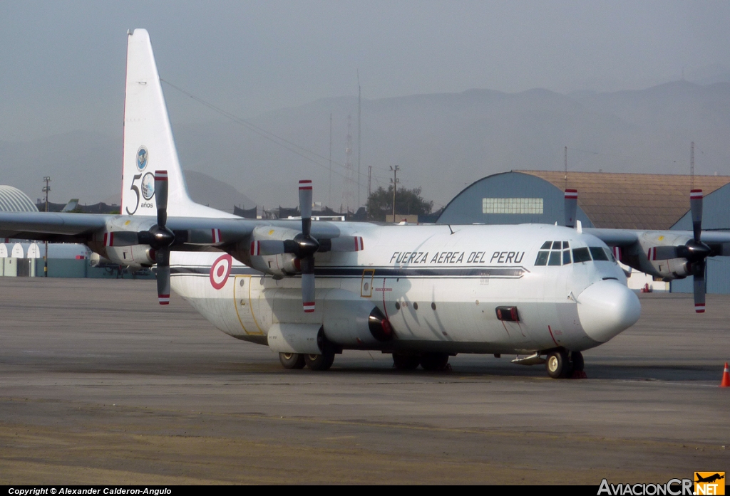
<path fill-rule="evenodd" d="M 315 312 L 302 311 L 300 277 L 276 279 L 236 259 L 230 263 L 220 252 L 173 252 L 172 288 L 220 330 L 260 344 L 280 323 L 322 324 L 326 336 L 343 349 L 579 351 L 608 341 L 639 318 L 637 296 L 626 288 L 615 261 L 600 256 L 572 261 L 570 253 L 578 248 L 608 251 L 602 241 L 575 229 L 541 224 L 338 227 L 342 235 L 363 237 L 364 250 L 315 256 Z M 556 241 L 562 250 L 550 250 L 548 242 Z M 540 251 L 547 252 L 541 255 L 548 260 L 544 265 L 536 265 Z M 277 260 L 249 262 L 270 267 Z M 328 326 L 338 325 L 327 321 L 337 308 L 356 320 L 366 318 L 357 308 L 367 312 L 368 305 L 387 316 L 394 339 L 328 333 Z M 496 307 L 501 306 L 517 307 L 519 320 L 499 320 Z"/>

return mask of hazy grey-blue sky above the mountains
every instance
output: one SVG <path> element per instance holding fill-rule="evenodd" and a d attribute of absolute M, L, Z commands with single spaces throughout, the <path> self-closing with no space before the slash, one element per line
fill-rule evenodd
<path fill-rule="evenodd" d="M 318 98 L 634 90 L 730 73 L 730 2 L 0 0 L 0 140 L 120 136 L 126 31 L 255 117 Z M 173 126 L 220 119 L 164 87 Z"/>

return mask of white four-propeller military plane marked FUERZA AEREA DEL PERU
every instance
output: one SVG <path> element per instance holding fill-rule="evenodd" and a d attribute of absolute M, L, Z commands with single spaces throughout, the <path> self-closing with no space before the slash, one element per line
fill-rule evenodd
<path fill-rule="evenodd" d="M 509 354 L 571 377 L 583 371 L 581 352 L 639 319 L 615 255 L 665 280 L 693 275 L 697 312 L 705 260 L 730 255 L 730 233 L 702 232 L 694 190 L 694 232 L 583 229 L 575 190 L 566 191 L 564 226 L 312 221 L 309 180 L 299 181 L 301 219 L 198 205 L 150 36 L 136 29 L 127 39 L 120 214 L 0 213 L 0 237 L 85 243 L 115 264 L 156 266 L 160 304 L 174 289 L 287 369 L 324 371 L 345 350 L 378 350 L 399 370 L 447 369 L 458 353 Z"/>

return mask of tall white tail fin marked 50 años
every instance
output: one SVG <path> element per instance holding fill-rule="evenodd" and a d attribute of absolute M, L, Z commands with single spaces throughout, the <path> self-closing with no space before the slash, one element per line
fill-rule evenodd
<path fill-rule="evenodd" d="M 196 204 L 188 195 L 150 35 L 145 29 L 127 35 L 121 213 L 155 216 L 155 170 L 167 170 L 169 216 L 226 216 Z"/>

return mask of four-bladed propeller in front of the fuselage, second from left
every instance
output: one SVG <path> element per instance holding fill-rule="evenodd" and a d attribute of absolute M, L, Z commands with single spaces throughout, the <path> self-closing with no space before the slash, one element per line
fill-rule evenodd
<path fill-rule="evenodd" d="M 362 251 L 364 243 L 360 236 L 323 240 L 312 237 L 312 181 L 308 179 L 299 181 L 299 211 L 301 232 L 293 240 L 253 240 L 250 253 L 252 256 L 291 253 L 296 257 L 294 264 L 301 270 L 301 303 L 304 312 L 309 313 L 315 311 L 315 253 Z"/>

